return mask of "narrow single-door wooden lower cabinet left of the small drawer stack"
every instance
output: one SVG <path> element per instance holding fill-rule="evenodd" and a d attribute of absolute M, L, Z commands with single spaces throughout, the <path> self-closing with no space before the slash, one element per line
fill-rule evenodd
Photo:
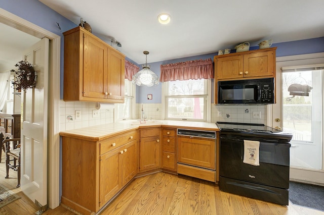
<path fill-rule="evenodd" d="M 160 128 L 140 129 L 140 172 L 160 168 Z"/>

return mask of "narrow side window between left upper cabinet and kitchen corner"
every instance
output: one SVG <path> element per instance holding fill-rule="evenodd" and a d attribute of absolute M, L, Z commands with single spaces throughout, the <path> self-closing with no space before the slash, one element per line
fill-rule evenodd
<path fill-rule="evenodd" d="M 135 115 L 135 85 L 125 79 L 125 101 L 115 105 L 115 121 L 130 120 Z"/>

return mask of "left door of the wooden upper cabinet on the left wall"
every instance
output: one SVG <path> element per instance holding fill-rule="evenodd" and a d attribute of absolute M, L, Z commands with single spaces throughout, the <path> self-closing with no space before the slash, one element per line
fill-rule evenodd
<path fill-rule="evenodd" d="M 108 46 L 95 37 L 83 33 L 83 96 L 107 98 Z"/>

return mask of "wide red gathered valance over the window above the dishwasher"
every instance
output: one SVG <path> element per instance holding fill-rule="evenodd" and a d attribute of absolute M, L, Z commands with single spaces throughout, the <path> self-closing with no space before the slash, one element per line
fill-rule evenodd
<path fill-rule="evenodd" d="M 161 65 L 160 82 L 214 78 L 212 59 Z"/>

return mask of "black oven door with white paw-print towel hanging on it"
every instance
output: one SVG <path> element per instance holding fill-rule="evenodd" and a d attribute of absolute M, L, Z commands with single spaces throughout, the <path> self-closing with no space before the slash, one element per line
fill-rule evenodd
<path fill-rule="evenodd" d="M 288 189 L 290 144 L 247 139 L 260 141 L 260 166 L 243 163 L 243 137 L 220 137 L 220 176 Z"/>

